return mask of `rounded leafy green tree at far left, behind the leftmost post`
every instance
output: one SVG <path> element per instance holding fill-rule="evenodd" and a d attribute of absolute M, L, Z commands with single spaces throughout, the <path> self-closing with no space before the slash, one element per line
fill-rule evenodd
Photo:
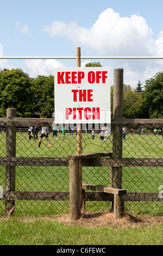
<path fill-rule="evenodd" d="M 33 92 L 31 80 L 21 69 L 0 72 L 0 115 L 6 116 L 7 108 L 14 107 L 17 117 L 32 117 Z"/>

